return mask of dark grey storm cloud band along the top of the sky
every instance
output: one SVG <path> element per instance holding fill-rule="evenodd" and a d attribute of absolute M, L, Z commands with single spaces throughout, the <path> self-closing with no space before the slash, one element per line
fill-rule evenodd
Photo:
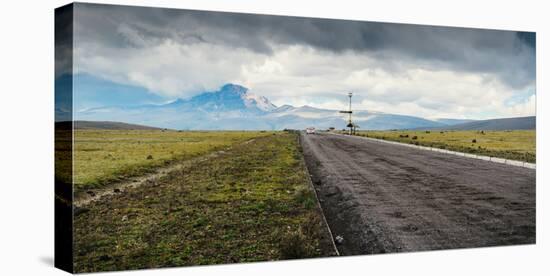
<path fill-rule="evenodd" d="M 270 55 L 280 45 L 307 45 L 368 53 L 388 66 L 487 73 L 517 89 L 535 79 L 534 33 L 93 4 L 78 4 L 76 16 L 77 39 L 108 47 L 170 39 Z"/>

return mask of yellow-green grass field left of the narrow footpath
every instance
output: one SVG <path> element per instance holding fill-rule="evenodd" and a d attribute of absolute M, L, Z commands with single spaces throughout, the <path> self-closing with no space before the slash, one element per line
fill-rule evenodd
<path fill-rule="evenodd" d="M 76 130 L 74 189 L 78 192 L 97 188 L 151 172 L 173 161 L 190 159 L 269 134 L 244 131 Z"/>

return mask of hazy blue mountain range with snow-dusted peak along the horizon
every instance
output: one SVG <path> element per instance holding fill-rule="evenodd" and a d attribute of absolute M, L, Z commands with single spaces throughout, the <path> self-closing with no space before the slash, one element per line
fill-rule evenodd
<path fill-rule="evenodd" d="M 436 119 L 354 110 L 360 129 L 435 129 L 473 123 L 473 120 Z M 281 130 L 316 127 L 342 129 L 346 114 L 311 106 L 276 106 L 247 88 L 226 84 L 218 91 L 165 104 L 113 105 L 77 111 L 76 120 L 118 121 L 182 130 Z"/>

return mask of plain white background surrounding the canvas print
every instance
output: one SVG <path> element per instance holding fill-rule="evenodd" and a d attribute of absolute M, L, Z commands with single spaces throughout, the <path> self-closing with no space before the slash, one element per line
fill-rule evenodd
<path fill-rule="evenodd" d="M 548 273 L 548 47 L 546 1 L 100 1 L 158 7 L 481 27 L 537 32 L 537 244 L 361 257 L 218 265 L 109 275 L 532 275 Z M 53 268 L 54 8 L 4 1 L 0 24 L 0 275 Z M 546 127 L 545 127 L 546 125 Z M 548 143 L 548 142 L 547 142 Z M 546 219 L 545 219 L 546 217 Z M 546 258 L 544 257 L 546 255 Z M 97 274 L 99 275 L 99 274 Z M 546 274 L 548 275 L 548 274 Z"/>

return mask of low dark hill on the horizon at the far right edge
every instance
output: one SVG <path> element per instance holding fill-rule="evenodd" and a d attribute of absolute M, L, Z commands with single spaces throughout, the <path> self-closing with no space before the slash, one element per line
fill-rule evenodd
<path fill-rule="evenodd" d="M 536 128 L 536 117 L 517 117 L 473 121 L 438 129 L 448 130 L 527 130 Z"/>

